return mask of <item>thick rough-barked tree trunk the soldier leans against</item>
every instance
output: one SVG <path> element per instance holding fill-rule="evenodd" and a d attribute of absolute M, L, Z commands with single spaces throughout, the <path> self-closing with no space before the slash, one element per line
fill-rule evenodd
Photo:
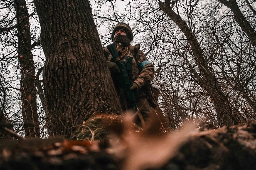
<path fill-rule="evenodd" d="M 83 121 L 120 114 L 89 2 L 35 0 L 45 52 L 45 97 L 53 135 L 72 138 Z"/>

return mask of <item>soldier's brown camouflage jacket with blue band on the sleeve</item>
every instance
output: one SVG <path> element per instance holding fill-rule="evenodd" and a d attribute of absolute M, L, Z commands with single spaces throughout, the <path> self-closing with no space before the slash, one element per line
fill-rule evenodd
<path fill-rule="evenodd" d="M 149 85 L 154 77 L 154 66 L 148 61 L 146 55 L 139 49 L 137 55 L 135 56 L 134 46 L 130 44 L 130 49 L 127 51 L 127 54 L 120 58 L 121 61 L 126 60 L 127 56 L 133 57 L 132 59 L 132 75 L 129 76 L 129 79 L 136 83 L 139 88 L 145 84 Z M 104 55 L 109 62 L 112 58 L 111 54 L 106 47 L 103 47 Z"/>

